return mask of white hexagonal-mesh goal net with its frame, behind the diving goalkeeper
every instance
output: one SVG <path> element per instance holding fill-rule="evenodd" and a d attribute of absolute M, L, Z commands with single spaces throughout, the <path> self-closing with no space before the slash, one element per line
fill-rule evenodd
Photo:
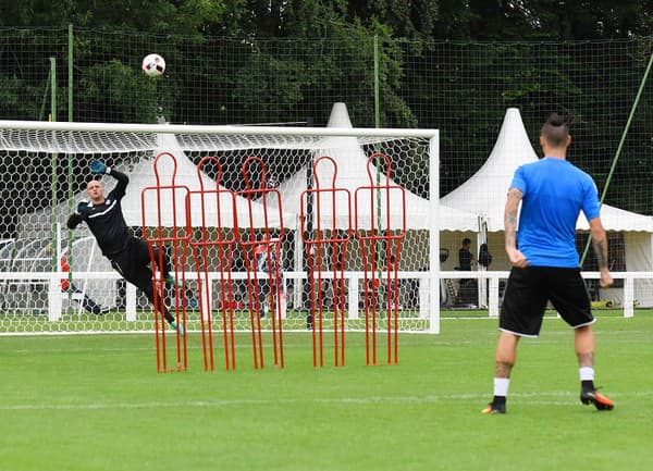
<path fill-rule="evenodd" d="M 311 302 L 315 309 L 317 299 L 311 297 L 311 276 L 321 280 L 324 329 L 332 327 L 329 317 L 334 297 L 341 299 L 343 293 L 336 289 L 334 296 L 333 246 L 320 247 L 320 273 L 316 274 L 315 267 L 309 270 L 305 243 L 329 239 L 329 234 L 350 235 L 343 265 L 337 267 L 343 273 L 347 330 L 365 329 L 369 309 L 366 290 L 373 278 L 379 329 L 385 329 L 385 313 L 392 309 L 396 310 L 401 332 L 439 331 L 440 290 L 433 289 L 440 286 L 436 131 L 353 128 L 346 108 L 338 103 L 324 128 L 0 122 L 0 152 L 15 182 L 7 195 L 12 201 L 11 213 L 0 227 L 0 333 L 153 329 L 152 306 L 111 269 L 86 225 L 75 231 L 66 227 L 69 215 L 86 197 L 94 159 L 128 175 L 122 208 L 137 237 L 150 230 L 152 221 L 163 234 L 171 233 L 173 225 L 188 224 L 192 240 L 201 231 L 218 240 L 239 230 L 249 244 L 264 235 L 280 237 L 285 331 L 310 327 Z M 155 171 L 155 159 L 161 152 L 172 159 L 161 159 Z M 370 160 L 372 154 L 384 158 Z M 198 172 L 198 163 L 207 156 L 219 165 L 204 165 Z M 244 172 L 244 163 L 251 162 L 252 157 L 256 164 L 249 163 Z M 315 165 L 320 157 L 330 157 L 334 166 Z M 111 176 L 101 181 L 110 191 L 114 184 Z M 348 193 L 349 207 L 323 202 L 324 195 L 310 191 L 318 182 L 322 188 Z M 201 212 L 214 208 L 192 203 L 186 211 L 184 200 L 169 204 L 144 197 L 147 188 L 171 184 L 189 193 L 219 185 L 221 190 L 233 193 L 233 210 L 222 207 L 217 227 L 214 214 L 206 219 L 210 223 L 201 223 Z M 355 204 L 361 187 L 369 195 L 367 199 L 359 196 L 361 201 Z M 272 198 L 270 189 L 279 197 Z M 162 215 L 157 214 L 158 207 L 163 208 Z M 386 235 L 403 231 L 401 249 L 392 248 L 390 270 L 387 240 L 393 238 Z M 381 236 L 371 251 L 368 247 L 364 253 L 364 245 L 356 237 L 369 234 Z M 171 247 L 163 249 L 184 274 L 187 329 L 199 330 L 200 283 L 192 251 L 180 258 Z M 219 261 L 224 257 L 223 248 L 209 246 L 202 253 L 211 281 L 211 310 L 219 310 L 229 298 L 235 329 L 249 330 L 249 313 L 255 307 L 248 294 L 243 245 L 236 244 L 230 253 L 233 293 L 229 297 L 220 282 L 224 276 Z M 387 302 L 390 290 L 392 306 Z M 254 302 L 258 303 L 256 297 Z M 213 329 L 221 329 L 218 315 Z"/>

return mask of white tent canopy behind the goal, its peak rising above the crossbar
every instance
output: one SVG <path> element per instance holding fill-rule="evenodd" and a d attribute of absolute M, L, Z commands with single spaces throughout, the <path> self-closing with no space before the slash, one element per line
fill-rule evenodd
<path fill-rule="evenodd" d="M 345 103 L 334 103 L 329 119 L 328 127 L 338 128 L 352 128 L 352 121 L 347 112 Z M 350 203 L 352 203 L 352 225 L 355 225 L 355 199 L 356 190 L 360 187 L 369 187 L 372 185 L 370 176 L 368 174 L 368 158 L 365 156 L 356 137 L 326 137 L 322 139 L 321 144 L 317 149 L 313 150 L 313 162 L 322 157 L 331 157 L 336 166 L 337 175 L 335 182 L 333 182 L 333 165 L 328 161 L 322 160 L 317 165 L 317 179 L 319 181 L 321 188 L 343 188 L 349 191 Z M 392 159 L 392 156 L 389 156 Z M 393 162 L 394 163 L 394 162 Z M 401 172 L 396 165 L 393 166 L 396 172 Z M 312 173 L 312 169 L 310 170 Z M 373 164 L 369 165 L 369 173 L 374 178 L 377 168 Z M 386 176 L 381 175 L 381 185 L 385 185 Z M 385 214 L 385 194 L 382 193 L 381 199 L 381 220 L 385 222 L 386 216 L 390 216 L 391 227 L 399 228 L 403 225 L 403 218 L 406 219 L 407 230 L 427 230 L 431 226 L 429 221 L 429 200 L 415 195 L 411 191 L 404 189 L 402 191 L 398 185 L 390 178 L 387 182 L 390 186 L 396 186 L 397 188 L 391 189 L 387 195 L 387 207 L 390 208 L 389 214 Z M 282 195 L 282 206 L 285 212 L 298 214 L 300 213 L 301 194 L 307 188 L 307 170 L 304 168 L 292 177 L 285 179 L 280 186 L 279 190 Z M 402 196 L 402 194 L 404 196 Z M 359 227 L 369 227 L 369 220 L 371 218 L 371 191 L 359 190 L 358 191 L 358 224 Z M 321 197 L 322 203 L 320 204 L 320 222 L 323 227 L 331 227 L 333 224 L 333 204 L 326 201 L 328 196 Z M 330 198 L 330 196 L 329 196 Z M 405 207 L 404 201 L 405 200 Z M 274 201 L 269 200 L 269 204 L 274 204 Z M 374 201 L 375 204 L 375 201 Z M 313 208 L 316 208 L 313 202 Z M 375 208 L 375 207 L 374 207 Z M 405 208 L 405 210 L 404 210 Z M 375 208 L 374 213 L 378 211 Z M 335 214 L 335 226 L 336 228 L 345 228 L 348 225 L 348 214 L 346 212 L 346 196 L 344 193 L 336 194 L 336 214 Z M 315 221 L 317 222 L 317 214 Z M 452 225 L 457 227 L 464 227 L 463 230 L 475 231 L 478 228 L 478 221 L 475 214 L 455 210 L 447 207 L 440 207 L 440 225 L 446 230 Z"/>

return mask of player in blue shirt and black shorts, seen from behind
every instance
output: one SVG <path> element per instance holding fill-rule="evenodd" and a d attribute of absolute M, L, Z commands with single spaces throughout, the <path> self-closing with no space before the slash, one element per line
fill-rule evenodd
<path fill-rule="evenodd" d="M 595 319 L 580 275 L 576 250 L 576 221 L 582 211 L 590 232 L 601 286 L 613 284 L 607 269 L 607 237 L 601 223 L 596 186 L 566 160 L 571 136 L 564 120 L 552 114 L 542 126 L 544 159 L 515 172 L 505 208 L 506 252 L 513 264 L 500 318 L 494 398 L 483 413 L 505 413 L 510 371 L 521 337 L 540 333 L 546 302 L 574 329 L 580 370 L 582 404 L 612 410 L 614 402 L 594 387 Z M 517 232 L 517 212 L 519 232 Z"/>

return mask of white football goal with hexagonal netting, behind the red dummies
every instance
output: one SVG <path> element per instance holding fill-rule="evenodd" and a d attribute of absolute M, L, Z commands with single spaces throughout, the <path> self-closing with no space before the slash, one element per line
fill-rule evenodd
<path fill-rule="evenodd" d="M 334 113 L 336 113 L 334 108 Z M 156 182 L 153 160 L 160 152 L 174 156 L 170 162 L 158 168 L 162 185 L 169 185 L 175 173 L 175 185 L 185 185 L 190 190 L 213 183 L 220 174 L 221 188 L 234 191 L 237 204 L 241 199 L 252 200 L 254 204 L 274 206 L 274 201 L 256 200 L 256 195 L 241 194 L 246 189 L 247 177 L 243 163 L 256 156 L 264 164 L 268 188 L 281 195 L 278 208 L 283 220 L 284 239 L 282 271 L 286 286 L 284 330 L 306 331 L 308 270 L 306 247 L 300 234 L 301 195 L 316 188 L 316 174 L 321 185 L 333 185 L 354 195 L 361 186 L 389 185 L 405 191 L 405 208 L 390 201 L 391 191 L 378 191 L 377 204 L 360 204 L 350 208 L 362 213 L 364 224 L 380 224 L 380 231 L 401 231 L 398 221 L 404 218 L 406 236 L 402 243 L 398 260 L 397 309 L 401 332 L 440 332 L 440 195 L 439 195 L 439 132 L 438 129 L 384 129 L 354 128 L 346 109 L 332 115 L 330 125 L 317 127 L 276 126 L 195 126 L 175 124 L 109 124 L 109 123 L 58 123 L 0 121 L 0 154 L 15 169 L 14 206 L 4 209 L 0 227 L 0 334 L 38 332 L 150 332 L 153 329 L 151 306 L 133 286 L 121 284 L 109 262 L 101 257 L 94 238 L 83 224 L 74 232 L 65 230 L 65 220 L 77 200 L 85 194 L 85 184 L 90 178 L 88 164 L 101 159 L 130 176 L 130 185 L 122 204 L 127 225 L 138 233 L 143 214 L 150 208 L 141 203 L 141 191 Z M 381 159 L 368 161 L 369 156 L 387 156 L 389 164 Z M 201 158 L 213 156 L 221 164 L 202 169 L 197 164 Z M 331 169 L 313 164 L 319 157 L 329 156 L 337 165 L 337 176 Z M 257 188 L 263 177 L 262 169 L 250 168 L 249 185 Z M 111 177 L 102 177 L 107 190 L 111 190 Z M 36 193 L 35 193 L 36 191 Z M 263 195 L 262 198 L 266 198 Z M 317 231 L 318 220 L 332 221 L 332 214 L 322 204 L 309 204 L 308 225 Z M 383 200 L 383 201 L 382 201 Z M 145 208 L 143 206 L 146 206 Z M 249 203 L 248 203 L 249 204 Z M 258 208 L 258 207 L 257 207 Z M 398 211 L 398 212 L 397 212 Z M 399 214 L 404 212 L 404 214 Z M 180 212 L 176 221 L 185 221 Z M 245 225 L 257 223 L 256 214 Z M 262 218 L 262 216 L 261 216 Z M 263 218 L 267 219 L 268 216 Z M 238 225 L 243 220 L 238 215 Z M 352 218 L 354 220 L 354 218 Z M 226 218 L 230 220 L 230 218 Z M 257 221 L 261 221 L 258 219 Z M 233 222 L 233 221 L 232 221 Z M 270 232 L 279 233 L 282 223 L 268 219 Z M 61 227 L 64 227 L 61 230 Z M 336 223 L 335 231 L 347 230 Z M 229 230 L 229 223 L 227 223 Z M 262 227 L 255 227 L 262 231 Z M 362 227 L 362 231 L 369 227 Z M 234 231 L 232 228 L 232 231 Z M 251 232 L 254 234 L 254 232 Z M 212 248 L 215 250 L 215 248 Z M 326 250 L 326 249 L 325 249 Z M 59 261 L 69 257 L 70 269 L 63 270 Z M 210 255 L 211 259 L 218 252 Z M 237 309 L 243 310 L 243 323 L 247 330 L 247 297 L 241 282 L 246 277 L 242 253 L 234 250 L 232 267 L 234 290 L 239 296 Z M 184 267 L 188 297 L 197 295 L 197 276 L 190 251 Z M 375 276 L 382 286 L 389 285 L 385 261 L 375 264 Z M 178 260 L 176 260 L 178 262 Z M 324 281 L 324 299 L 329 303 L 330 280 L 333 271 L 328 268 L 329 253 L 324 253 L 326 267 L 321 275 Z M 358 241 L 354 236 L 347 248 L 344 267 L 346 280 L 347 329 L 361 330 L 366 289 L 365 272 Z M 212 271 L 212 308 L 220 302 L 219 271 Z M 315 276 L 315 274 L 313 274 Z M 71 293 L 61 288 L 67 278 L 77 288 Z M 108 311 L 96 315 L 83 306 L 84 296 Z M 188 309 L 189 330 L 199 327 L 197 315 Z M 326 306 L 326 309 L 328 306 Z M 385 312 L 386 307 L 382 308 Z M 393 307 L 394 309 L 394 307 Z M 197 322 L 195 322 L 197 321 Z M 195 323 L 194 323 L 195 322 Z M 197 325 L 195 325 L 197 324 Z"/>

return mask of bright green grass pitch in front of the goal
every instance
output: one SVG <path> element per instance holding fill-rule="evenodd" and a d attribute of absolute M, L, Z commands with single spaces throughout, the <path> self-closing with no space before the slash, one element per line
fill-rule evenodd
<path fill-rule="evenodd" d="M 572 334 L 547 319 L 520 345 L 508 413 L 491 417 L 496 320 L 403 335 L 392 367 L 367 367 L 356 333 L 346 367 L 329 349 L 313 369 L 295 333 L 285 369 L 268 345 L 254 370 L 239 335 L 236 370 L 217 350 L 212 373 L 193 334 L 175 373 L 156 372 L 152 335 L 4 336 L 0 470 L 650 470 L 652 331 L 650 312 L 596 323 L 597 384 L 616 402 L 599 412 L 578 399 Z"/>

